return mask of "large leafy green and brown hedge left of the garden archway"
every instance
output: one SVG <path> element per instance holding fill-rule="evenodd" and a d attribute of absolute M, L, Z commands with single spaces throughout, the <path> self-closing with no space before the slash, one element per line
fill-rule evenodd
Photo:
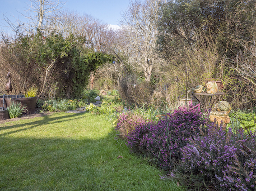
<path fill-rule="evenodd" d="M 84 43 L 81 38 L 64 38 L 57 33 L 43 39 L 39 31 L 19 36 L 16 41 L 4 44 L 1 54 L 5 55 L 5 66 L 1 67 L 19 76 L 16 84 L 35 85 L 43 90 L 42 98 L 81 98 L 90 72 L 112 59 L 106 53 L 89 51 Z M 26 91 L 22 85 L 16 89 Z"/>

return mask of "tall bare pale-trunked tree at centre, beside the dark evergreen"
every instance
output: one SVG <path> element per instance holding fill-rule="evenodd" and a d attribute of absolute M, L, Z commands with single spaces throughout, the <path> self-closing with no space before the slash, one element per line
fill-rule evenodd
<path fill-rule="evenodd" d="M 158 10 L 162 0 L 131 1 L 120 22 L 124 31 L 129 62 L 143 68 L 145 81 L 150 81 L 158 59 L 155 52 Z"/>

